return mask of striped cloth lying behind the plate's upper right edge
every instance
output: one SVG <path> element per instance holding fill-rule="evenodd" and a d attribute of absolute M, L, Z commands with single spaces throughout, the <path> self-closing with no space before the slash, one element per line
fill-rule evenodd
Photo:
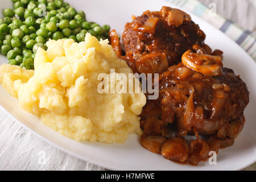
<path fill-rule="evenodd" d="M 211 9 L 208 9 L 202 3 L 196 0 L 165 0 L 171 2 L 172 4 L 181 7 L 182 9 L 188 11 L 189 13 L 199 16 L 206 22 L 212 24 L 214 27 L 218 28 L 224 34 L 229 36 L 234 40 L 239 46 L 241 46 L 245 51 L 256 61 L 256 34 L 249 30 L 242 30 L 240 27 L 236 26 L 231 20 L 225 19 L 218 14 L 213 14 Z M 244 169 L 246 171 L 255 171 L 256 163 Z"/>

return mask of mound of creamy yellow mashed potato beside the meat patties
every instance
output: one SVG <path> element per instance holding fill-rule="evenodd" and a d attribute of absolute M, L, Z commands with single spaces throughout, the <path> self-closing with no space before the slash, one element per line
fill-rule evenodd
<path fill-rule="evenodd" d="M 139 117 L 146 97 L 137 94 L 100 94 L 98 74 L 132 73 L 118 59 L 108 40 L 98 42 L 86 34 L 85 42 L 49 40 L 48 50 L 38 49 L 35 71 L 15 65 L 0 66 L 0 82 L 20 106 L 41 121 L 75 140 L 124 142 L 141 134 Z M 111 77 L 110 77 L 111 78 Z"/>

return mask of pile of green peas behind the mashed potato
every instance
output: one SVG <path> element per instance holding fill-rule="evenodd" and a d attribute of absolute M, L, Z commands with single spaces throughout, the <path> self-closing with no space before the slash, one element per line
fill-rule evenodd
<path fill-rule="evenodd" d="M 12 0 L 14 9 L 3 10 L 0 19 L 1 54 L 9 64 L 34 69 L 38 48 L 47 49 L 49 39 L 82 42 L 86 32 L 107 39 L 110 26 L 86 22 L 84 11 L 76 11 L 63 0 Z"/>

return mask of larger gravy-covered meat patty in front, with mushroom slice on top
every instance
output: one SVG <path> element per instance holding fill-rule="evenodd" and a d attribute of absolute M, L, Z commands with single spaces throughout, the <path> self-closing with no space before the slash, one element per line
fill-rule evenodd
<path fill-rule="evenodd" d="M 148 100 L 141 114 L 141 143 L 164 158 L 197 165 L 210 150 L 234 143 L 249 91 L 232 69 L 222 67 L 221 51 L 192 47 L 195 52 L 188 50 L 181 63 L 159 75 L 159 98 Z M 187 144 L 186 135 L 197 139 Z"/>

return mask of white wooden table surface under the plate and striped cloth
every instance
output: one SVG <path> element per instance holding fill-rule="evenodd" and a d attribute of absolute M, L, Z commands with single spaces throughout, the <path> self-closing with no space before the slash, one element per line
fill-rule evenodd
<path fill-rule="evenodd" d="M 256 0 L 199 0 L 216 3 L 217 13 L 256 32 Z M 103 170 L 47 144 L 0 110 L 0 170 Z M 248 168 L 252 169 L 252 168 Z"/>

